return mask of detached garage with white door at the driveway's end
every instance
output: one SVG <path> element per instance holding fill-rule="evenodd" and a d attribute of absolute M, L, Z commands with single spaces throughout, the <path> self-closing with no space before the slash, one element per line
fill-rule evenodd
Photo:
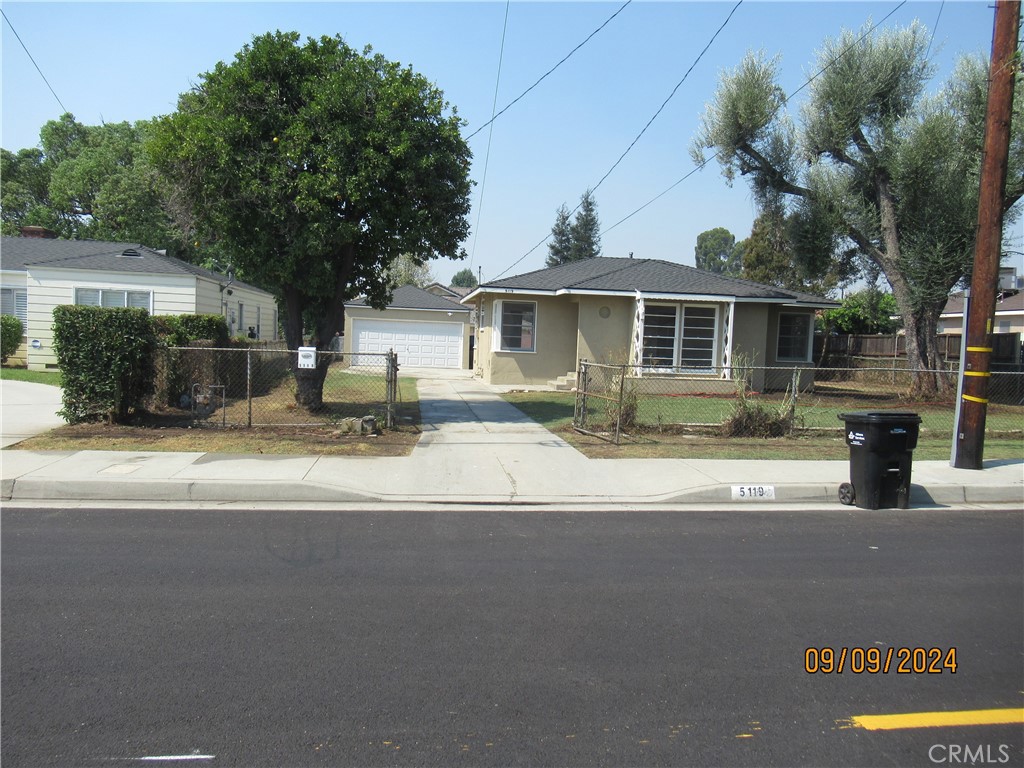
<path fill-rule="evenodd" d="M 471 337 L 469 307 L 416 286 L 396 288 L 386 309 L 361 298 L 345 304 L 342 348 L 355 366 L 360 353 L 393 349 L 399 366 L 468 369 Z"/>

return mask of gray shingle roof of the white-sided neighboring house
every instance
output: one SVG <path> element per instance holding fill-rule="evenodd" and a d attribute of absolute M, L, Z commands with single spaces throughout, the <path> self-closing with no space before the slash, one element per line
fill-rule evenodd
<path fill-rule="evenodd" d="M 138 256 L 124 256 L 126 250 L 132 250 Z M 15 271 L 48 267 L 139 274 L 193 274 L 220 283 L 227 280 L 212 269 L 189 264 L 137 243 L 109 243 L 98 240 L 0 238 L 0 266 Z M 239 281 L 234 285 L 261 290 Z"/>

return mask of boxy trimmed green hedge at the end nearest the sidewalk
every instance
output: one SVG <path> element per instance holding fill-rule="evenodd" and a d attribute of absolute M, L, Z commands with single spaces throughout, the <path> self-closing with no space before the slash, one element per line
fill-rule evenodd
<path fill-rule="evenodd" d="M 153 388 L 157 337 L 144 309 L 58 306 L 53 348 L 70 423 L 124 423 Z"/>

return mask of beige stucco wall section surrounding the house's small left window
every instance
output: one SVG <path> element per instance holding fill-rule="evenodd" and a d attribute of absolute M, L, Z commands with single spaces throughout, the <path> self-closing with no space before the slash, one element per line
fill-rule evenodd
<path fill-rule="evenodd" d="M 536 351 L 495 349 L 496 304 L 502 300 L 537 303 Z M 577 368 L 579 305 L 567 296 L 486 296 L 477 344 L 479 370 L 492 384 L 547 384 Z"/>

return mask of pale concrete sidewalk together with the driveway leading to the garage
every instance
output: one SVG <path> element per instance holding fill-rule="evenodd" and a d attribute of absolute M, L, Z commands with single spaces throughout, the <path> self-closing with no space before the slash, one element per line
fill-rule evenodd
<path fill-rule="evenodd" d="M 421 378 L 423 436 L 409 457 L 4 451 L 8 501 L 635 506 L 776 503 L 841 508 L 846 461 L 588 459 L 490 387 Z M 1021 504 L 1020 461 L 982 471 L 914 462 L 911 505 Z"/>

